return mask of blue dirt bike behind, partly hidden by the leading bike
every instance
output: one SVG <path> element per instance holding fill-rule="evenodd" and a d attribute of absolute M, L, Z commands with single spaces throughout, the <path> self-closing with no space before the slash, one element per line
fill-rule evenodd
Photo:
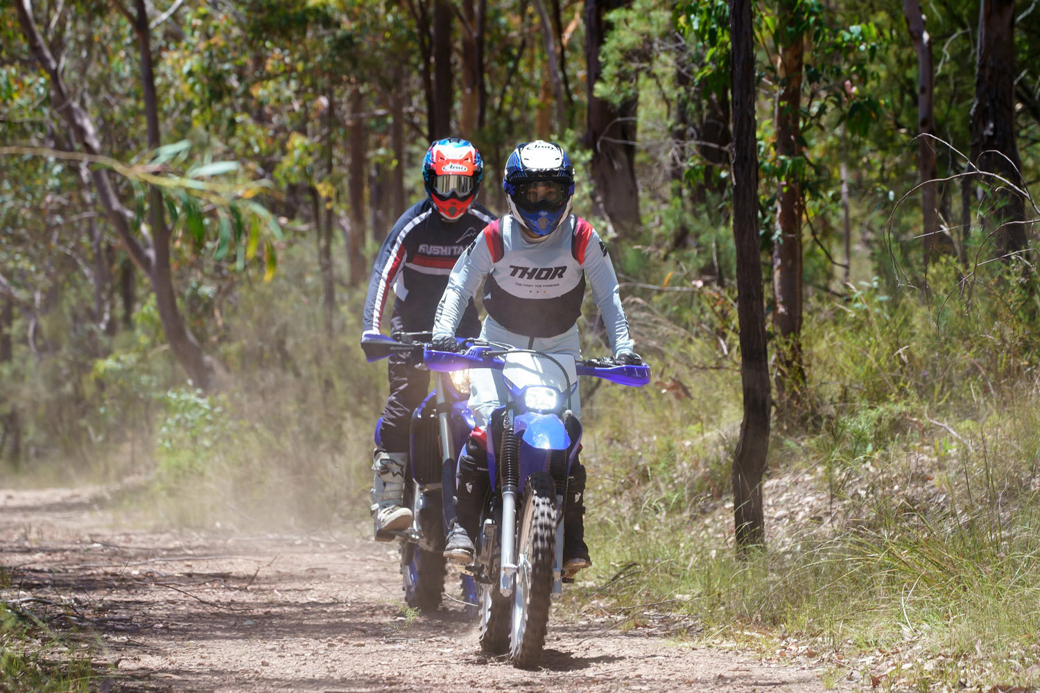
<path fill-rule="evenodd" d="M 416 368 L 426 368 L 423 348 L 430 332 L 394 332 L 362 342 L 368 362 L 405 354 Z M 466 405 L 469 382 L 465 371 L 434 372 L 434 390 L 412 414 L 411 450 L 401 503 L 412 509 L 412 526 L 391 532 L 400 541 L 400 575 L 405 601 L 420 611 L 433 611 L 444 593 L 444 541 L 447 522 L 454 516 L 454 475 L 458 451 L 473 430 L 473 415 Z M 375 445 L 380 446 L 380 425 Z M 476 585 L 462 578 L 462 598 L 476 608 Z"/>

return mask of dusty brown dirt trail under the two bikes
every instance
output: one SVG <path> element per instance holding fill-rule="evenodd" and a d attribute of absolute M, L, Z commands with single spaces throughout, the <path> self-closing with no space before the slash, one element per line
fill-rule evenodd
<path fill-rule="evenodd" d="M 824 690 L 810 669 L 558 612 L 542 667 L 519 671 L 480 654 L 459 604 L 405 614 L 395 547 L 356 530 L 138 530 L 114 524 L 102 498 L 96 489 L 0 490 L 0 565 L 9 578 L 2 597 L 97 634 L 115 663 L 101 690 Z"/>

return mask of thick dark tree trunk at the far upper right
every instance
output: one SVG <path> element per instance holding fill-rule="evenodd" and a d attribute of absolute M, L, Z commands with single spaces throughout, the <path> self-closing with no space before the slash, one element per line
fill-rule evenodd
<path fill-rule="evenodd" d="M 1000 176 L 1021 187 L 1022 164 L 1015 141 L 1015 3 L 982 0 L 979 8 L 979 57 L 976 64 L 976 99 L 971 106 L 971 160 L 980 170 Z M 994 192 L 995 210 L 984 210 L 1002 224 L 997 240 L 1004 252 L 1026 244 L 1024 202 L 1013 190 L 989 177 L 982 181 Z M 995 214 L 994 214 L 995 212 Z M 985 228 L 985 223 L 983 223 Z"/>

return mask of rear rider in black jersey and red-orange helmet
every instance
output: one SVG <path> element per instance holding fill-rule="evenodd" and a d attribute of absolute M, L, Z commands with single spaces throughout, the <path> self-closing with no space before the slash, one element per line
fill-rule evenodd
<path fill-rule="evenodd" d="M 494 215 L 473 202 L 483 178 L 480 153 L 465 139 L 448 137 L 430 145 L 422 162 L 426 197 L 397 219 L 372 267 L 362 341 L 380 334 L 391 292 L 396 296 L 391 329 L 430 329 L 456 260 L 494 220 Z M 457 326 L 461 337 L 476 335 L 479 318 L 472 301 L 463 306 Z M 417 370 L 401 354 L 391 355 L 389 362 L 390 396 L 376 427 L 372 460 L 370 511 L 378 541 L 390 541 L 395 538 L 394 530 L 412 524 L 412 510 L 401 505 L 409 432 L 412 411 L 430 390 L 428 371 Z"/>

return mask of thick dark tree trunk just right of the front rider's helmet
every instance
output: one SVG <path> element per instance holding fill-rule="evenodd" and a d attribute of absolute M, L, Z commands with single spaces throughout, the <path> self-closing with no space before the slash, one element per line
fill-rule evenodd
<path fill-rule="evenodd" d="M 600 47 L 606 37 L 604 15 L 630 0 L 586 0 L 586 62 L 588 66 L 588 128 L 596 195 L 610 223 L 624 236 L 640 229 L 640 197 L 635 181 L 635 111 L 638 99 L 615 107 L 594 96 L 602 66 Z"/>

